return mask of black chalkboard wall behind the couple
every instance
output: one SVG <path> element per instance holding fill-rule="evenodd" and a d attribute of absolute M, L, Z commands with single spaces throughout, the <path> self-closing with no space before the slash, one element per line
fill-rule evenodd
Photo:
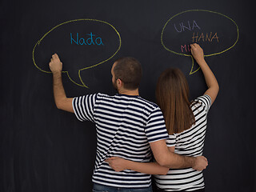
<path fill-rule="evenodd" d="M 74 114 L 55 107 L 52 75 L 48 73 L 51 54 L 58 53 L 63 70 L 69 71 L 69 76 L 63 74 L 69 97 L 96 92 L 114 94 L 111 66 L 116 58 L 132 56 L 142 62 L 140 94 L 143 98 L 154 101 L 158 75 L 171 66 L 186 74 L 193 99 L 204 93 L 206 84 L 200 70 L 190 74 L 192 60 L 182 55 L 180 46 L 192 42 L 193 33 L 206 36 L 212 32 L 218 33 L 219 42 L 216 38 L 212 42 L 206 39 L 203 42 L 201 38 L 198 42 L 205 53 L 226 50 L 237 39 L 234 22 L 239 29 L 238 42 L 230 50 L 206 58 L 218 79 L 220 92 L 208 116 L 204 155 L 209 166 L 204 175 L 207 192 L 255 191 L 254 8 L 252 1 L 237 0 L 2 0 L 0 191 L 91 190 L 96 147 L 94 124 L 78 122 Z M 170 18 L 186 10 L 214 11 L 234 22 L 219 14 L 200 11 L 179 15 L 163 33 L 167 48 L 180 53 L 174 54 L 162 46 L 162 30 Z M 82 18 L 103 22 L 63 24 Z M 194 26 L 193 30 L 185 29 L 182 33 L 174 31 L 174 23 L 179 26 L 183 22 L 188 27 L 188 22 L 191 25 L 193 21 L 200 30 Z M 58 27 L 50 31 L 55 26 Z M 38 46 L 38 40 L 49 31 Z M 90 32 L 95 34 L 92 37 L 102 38 L 104 46 L 95 42 L 94 45 L 71 44 L 70 33 L 75 40 L 77 33 L 79 39 L 86 40 Z M 81 70 L 100 62 L 101 65 Z"/>

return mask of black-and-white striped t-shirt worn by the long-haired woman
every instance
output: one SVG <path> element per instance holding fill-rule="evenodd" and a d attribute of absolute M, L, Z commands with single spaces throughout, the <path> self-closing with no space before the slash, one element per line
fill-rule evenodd
<path fill-rule="evenodd" d="M 179 134 L 171 134 L 166 139 L 167 146 L 175 146 L 175 154 L 201 156 L 206 136 L 207 113 L 211 98 L 203 95 L 194 100 L 191 109 L 195 124 L 189 130 Z M 170 169 L 166 175 L 154 175 L 156 185 L 165 191 L 199 190 L 205 187 L 202 171 L 186 169 Z"/>

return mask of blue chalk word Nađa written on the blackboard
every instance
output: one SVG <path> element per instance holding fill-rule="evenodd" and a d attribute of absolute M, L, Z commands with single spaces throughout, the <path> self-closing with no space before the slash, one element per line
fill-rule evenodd
<path fill-rule="evenodd" d="M 95 34 L 90 32 L 90 34 L 86 34 L 88 37 L 86 38 L 79 38 L 79 34 L 77 33 L 76 39 L 73 38 L 72 33 L 70 33 L 70 41 L 71 44 L 75 43 L 77 45 L 97 45 L 97 46 L 104 46 L 102 42 L 102 38 L 95 38 Z"/>

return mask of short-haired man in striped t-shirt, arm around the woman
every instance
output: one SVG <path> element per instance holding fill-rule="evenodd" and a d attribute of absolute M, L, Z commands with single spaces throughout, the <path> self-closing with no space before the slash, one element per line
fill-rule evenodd
<path fill-rule="evenodd" d="M 193 167 L 203 170 L 207 160 L 171 153 L 162 111 L 138 94 L 142 77 L 140 63 L 134 58 L 120 58 L 111 69 L 112 82 L 118 94 L 90 94 L 66 98 L 62 86 L 62 62 L 54 54 L 49 63 L 53 73 L 54 99 L 58 109 L 72 112 L 80 121 L 95 122 L 97 154 L 94 166 L 95 191 L 152 191 L 149 174 L 133 170 L 115 172 L 106 158 L 121 157 L 135 162 L 150 162 L 151 150 L 161 166 Z"/>

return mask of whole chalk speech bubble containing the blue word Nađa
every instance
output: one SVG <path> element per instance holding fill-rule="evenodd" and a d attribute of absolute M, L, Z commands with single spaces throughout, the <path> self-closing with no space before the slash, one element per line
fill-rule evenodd
<path fill-rule="evenodd" d="M 81 71 L 109 61 L 121 48 L 118 30 L 110 23 L 82 18 L 62 22 L 42 36 L 32 51 L 34 66 L 44 73 L 51 73 L 48 63 L 57 53 L 63 62 L 63 71 L 71 82 L 84 86 Z M 76 74 L 74 80 L 70 74 Z M 78 82 L 80 81 L 80 82 Z"/>

